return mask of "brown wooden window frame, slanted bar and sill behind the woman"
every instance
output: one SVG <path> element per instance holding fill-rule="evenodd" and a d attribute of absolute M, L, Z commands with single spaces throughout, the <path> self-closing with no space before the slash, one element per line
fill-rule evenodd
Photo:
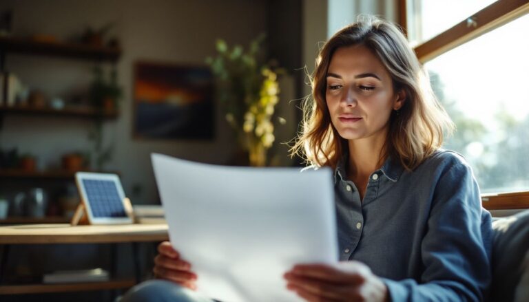
<path fill-rule="evenodd" d="M 404 33 L 408 32 L 407 0 L 398 0 L 398 23 Z M 482 34 L 509 23 L 529 13 L 529 0 L 499 0 L 469 16 L 452 28 L 414 47 L 421 63 L 453 50 Z M 488 210 L 510 210 L 529 208 L 529 191 L 509 193 L 487 193 L 481 195 L 481 202 Z"/>

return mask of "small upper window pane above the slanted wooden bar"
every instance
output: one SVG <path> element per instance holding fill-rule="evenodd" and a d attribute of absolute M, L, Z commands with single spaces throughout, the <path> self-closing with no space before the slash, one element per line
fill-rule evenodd
<path fill-rule="evenodd" d="M 457 23 L 497 0 L 408 0 L 412 14 L 411 39 L 422 43 L 448 30 Z"/>

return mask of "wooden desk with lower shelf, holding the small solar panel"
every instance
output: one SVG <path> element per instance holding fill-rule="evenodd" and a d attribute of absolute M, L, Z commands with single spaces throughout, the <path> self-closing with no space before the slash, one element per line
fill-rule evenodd
<path fill-rule="evenodd" d="M 96 283 L 0 285 L 0 294 L 72 292 L 129 288 L 139 281 L 138 242 L 169 240 L 167 224 L 123 224 L 112 226 L 70 226 L 70 224 L 28 224 L 0 226 L 3 252 L 0 277 L 6 268 L 10 244 L 103 244 L 132 243 L 136 280 L 113 280 Z"/>

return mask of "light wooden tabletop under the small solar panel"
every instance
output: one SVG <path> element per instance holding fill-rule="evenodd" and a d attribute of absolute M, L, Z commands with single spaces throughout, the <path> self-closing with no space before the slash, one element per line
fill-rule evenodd
<path fill-rule="evenodd" d="M 169 240 L 167 224 L 0 226 L 0 244 L 85 244 Z"/>

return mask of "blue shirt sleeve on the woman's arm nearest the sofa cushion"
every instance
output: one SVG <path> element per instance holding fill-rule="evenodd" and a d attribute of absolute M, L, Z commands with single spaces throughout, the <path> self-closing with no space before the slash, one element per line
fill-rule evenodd
<path fill-rule="evenodd" d="M 421 246 L 421 281 L 383 279 L 391 301 L 484 301 L 491 230 L 472 170 L 458 162 L 435 186 Z"/>

